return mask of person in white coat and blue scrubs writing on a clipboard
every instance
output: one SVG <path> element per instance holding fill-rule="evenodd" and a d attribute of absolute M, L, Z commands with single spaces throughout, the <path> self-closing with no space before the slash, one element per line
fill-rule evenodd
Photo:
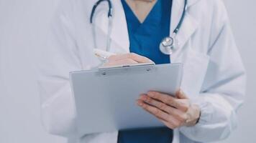
<path fill-rule="evenodd" d="M 227 138 L 237 126 L 245 73 L 223 2 L 114 0 L 109 21 L 109 3 L 103 1 L 91 24 L 95 3 L 64 0 L 52 21 L 50 42 L 40 51 L 38 84 L 47 131 L 68 137 L 69 142 L 86 143 L 192 143 Z M 175 39 L 178 47 L 170 55 L 159 49 L 166 36 Z M 94 48 L 117 54 L 106 64 L 183 63 L 183 81 L 175 97 L 155 91 L 134 101 L 166 127 L 78 137 L 69 71 L 99 66 Z"/>

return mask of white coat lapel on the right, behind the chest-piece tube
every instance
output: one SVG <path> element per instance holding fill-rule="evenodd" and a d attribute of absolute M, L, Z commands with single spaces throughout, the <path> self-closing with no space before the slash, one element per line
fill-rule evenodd
<path fill-rule="evenodd" d="M 196 4 L 196 1 L 198 0 L 188 0 L 188 9 L 193 4 Z M 173 34 L 174 29 L 176 28 L 178 22 L 180 21 L 180 17 L 182 16 L 183 13 L 184 3 L 184 0 L 173 0 L 170 35 Z M 181 51 L 186 45 L 188 39 L 191 38 L 191 36 L 193 35 L 197 28 L 198 22 L 188 13 L 188 11 L 186 11 L 183 24 L 181 25 L 180 30 L 176 35 L 176 40 L 178 41 L 178 49 L 170 56 L 172 61 L 175 61 L 175 59 L 181 54 Z"/>

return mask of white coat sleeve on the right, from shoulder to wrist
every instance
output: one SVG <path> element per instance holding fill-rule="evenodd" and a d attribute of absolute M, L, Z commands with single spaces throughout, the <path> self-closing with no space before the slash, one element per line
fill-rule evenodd
<path fill-rule="evenodd" d="M 214 0 L 215 1 L 215 0 Z M 243 103 L 245 71 L 234 42 L 227 11 L 216 2 L 214 24 L 209 44 L 209 66 L 201 93 L 194 102 L 201 107 L 201 117 L 194 127 L 180 132 L 196 142 L 225 139 L 237 127 L 237 109 Z"/>

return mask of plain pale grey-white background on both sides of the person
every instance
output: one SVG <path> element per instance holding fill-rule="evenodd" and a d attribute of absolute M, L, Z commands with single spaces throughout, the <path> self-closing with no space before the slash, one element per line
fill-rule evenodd
<path fill-rule="evenodd" d="M 40 124 L 32 53 L 59 0 L 0 0 L 0 142 L 62 143 Z M 256 9 L 254 0 L 225 0 L 248 74 L 239 128 L 224 143 L 256 142 Z"/>

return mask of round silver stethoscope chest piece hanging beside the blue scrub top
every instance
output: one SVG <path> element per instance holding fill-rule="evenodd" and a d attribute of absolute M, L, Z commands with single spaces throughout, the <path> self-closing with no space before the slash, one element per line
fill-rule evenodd
<path fill-rule="evenodd" d="M 165 37 L 160 43 L 160 51 L 163 54 L 173 54 L 175 51 L 175 38 L 168 36 Z"/>

